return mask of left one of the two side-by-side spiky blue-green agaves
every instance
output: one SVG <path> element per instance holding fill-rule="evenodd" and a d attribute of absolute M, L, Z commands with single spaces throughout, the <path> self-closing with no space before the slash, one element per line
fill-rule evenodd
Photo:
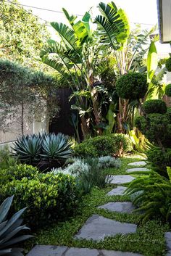
<path fill-rule="evenodd" d="M 14 155 L 17 156 L 21 162 L 33 164 L 38 162 L 41 154 L 41 134 L 22 136 L 14 142 Z"/>

